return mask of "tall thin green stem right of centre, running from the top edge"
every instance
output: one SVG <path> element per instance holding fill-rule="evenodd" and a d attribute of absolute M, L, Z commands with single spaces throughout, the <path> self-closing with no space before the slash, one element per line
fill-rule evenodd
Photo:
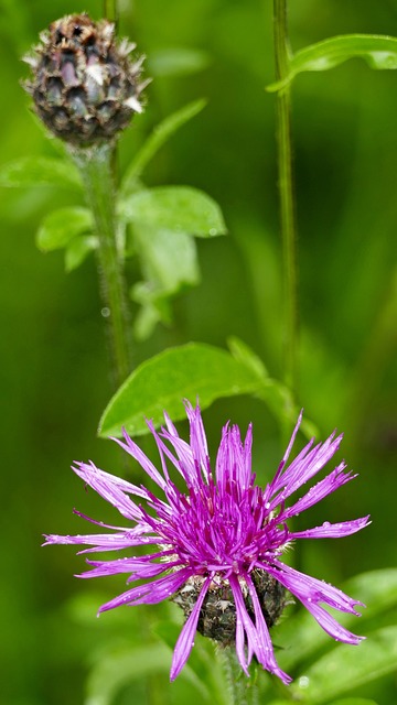
<path fill-rule="evenodd" d="M 289 64 L 287 0 L 273 0 L 273 22 L 276 77 L 282 80 L 288 74 Z M 277 96 L 277 139 L 285 283 L 283 379 L 294 398 L 298 384 L 298 274 L 289 87 L 281 89 Z"/>

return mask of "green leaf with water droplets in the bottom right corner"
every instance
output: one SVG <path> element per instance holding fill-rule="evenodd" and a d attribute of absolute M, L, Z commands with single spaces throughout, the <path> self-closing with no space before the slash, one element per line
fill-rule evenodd
<path fill-rule="evenodd" d="M 303 703 L 329 703 L 391 673 L 397 663 L 397 626 L 371 632 L 357 647 L 339 644 L 290 685 L 291 696 Z"/>

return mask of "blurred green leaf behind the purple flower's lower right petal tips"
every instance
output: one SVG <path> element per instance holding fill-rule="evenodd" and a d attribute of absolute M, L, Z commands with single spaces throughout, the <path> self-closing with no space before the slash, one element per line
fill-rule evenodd
<path fill-rule="evenodd" d="M 363 608 L 360 620 L 354 615 L 339 611 L 335 611 L 335 617 L 347 629 L 362 633 L 368 620 L 397 605 L 397 568 L 357 575 L 343 585 L 343 590 L 363 601 L 366 609 Z M 287 671 L 333 643 L 310 612 L 303 609 L 275 627 L 272 632 L 275 641 L 283 647 L 279 661 Z"/>

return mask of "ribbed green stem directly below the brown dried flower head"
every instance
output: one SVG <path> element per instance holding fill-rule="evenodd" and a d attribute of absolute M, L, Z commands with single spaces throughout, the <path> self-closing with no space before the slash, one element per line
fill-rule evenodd
<path fill-rule="evenodd" d="M 131 371 L 129 308 L 122 274 L 122 253 L 117 242 L 111 143 L 75 150 L 73 159 L 82 174 L 87 204 L 98 237 L 98 272 L 103 315 L 108 324 L 114 381 L 118 387 Z"/>

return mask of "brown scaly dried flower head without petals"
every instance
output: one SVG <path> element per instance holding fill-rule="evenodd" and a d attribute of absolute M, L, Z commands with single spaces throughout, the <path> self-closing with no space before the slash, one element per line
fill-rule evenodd
<path fill-rule="evenodd" d="M 136 45 L 117 43 L 112 23 L 71 14 L 50 24 L 40 39 L 24 57 L 33 74 L 24 87 L 56 137 L 77 145 L 108 140 L 142 112 L 143 57 L 130 59 Z"/>

